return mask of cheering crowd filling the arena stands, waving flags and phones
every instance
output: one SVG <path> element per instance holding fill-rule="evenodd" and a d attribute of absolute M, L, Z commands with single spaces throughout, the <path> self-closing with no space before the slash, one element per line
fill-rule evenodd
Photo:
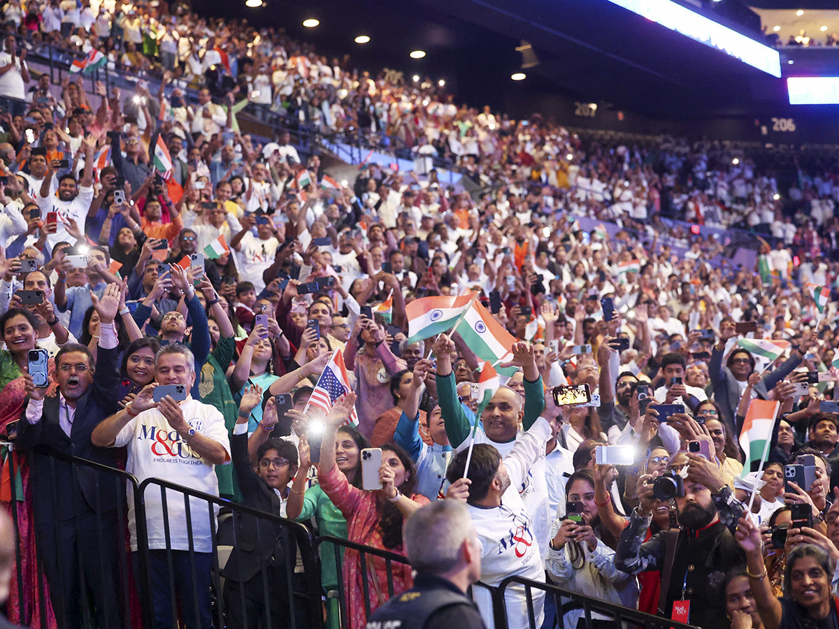
<path fill-rule="evenodd" d="M 706 629 L 836 627 L 835 172 L 780 190 L 730 147 L 586 142 L 161 5 L 4 20 L 0 96 L 26 101 L 0 113 L 13 621 L 88 626 L 90 601 L 126 626 L 117 574 L 145 546 L 155 627 L 219 626 L 220 601 L 227 626 L 311 622 L 286 529 L 234 520 L 220 562 L 206 502 L 141 509 L 58 451 L 411 559 L 415 580 L 321 545 L 335 629 L 452 566 L 464 626 L 494 626 L 515 575 Z M 159 93 L 51 85 L 39 41 L 159 71 Z M 375 165 L 338 182 L 289 133 L 241 133 L 248 103 L 399 138 L 483 191 Z M 663 218 L 752 230 L 755 267 Z M 510 629 L 586 622 L 538 588 L 505 601 Z"/>

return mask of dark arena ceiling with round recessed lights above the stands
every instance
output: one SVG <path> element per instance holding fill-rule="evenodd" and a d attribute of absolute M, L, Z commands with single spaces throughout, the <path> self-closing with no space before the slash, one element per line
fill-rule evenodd
<path fill-rule="evenodd" d="M 201 0 L 195 8 L 284 27 L 324 54 L 349 53 L 363 70 L 387 66 L 408 76 L 444 79 L 457 101 L 513 115 L 526 115 L 529 102 L 550 95 L 659 120 L 783 115 L 789 108 L 784 81 L 607 0 L 265 2 L 264 8 L 250 9 L 244 0 Z M 810 0 L 796 8 L 822 3 L 835 6 L 836 0 Z M 791 8 L 789 0 L 754 4 Z M 305 29 L 301 23 L 310 17 L 320 19 L 320 26 Z M 371 42 L 355 44 L 358 34 Z M 534 45 L 541 63 L 525 70 L 526 81 L 514 82 L 510 75 L 519 70 L 515 47 L 521 39 Z M 413 49 L 425 50 L 425 59 L 409 59 Z"/>

